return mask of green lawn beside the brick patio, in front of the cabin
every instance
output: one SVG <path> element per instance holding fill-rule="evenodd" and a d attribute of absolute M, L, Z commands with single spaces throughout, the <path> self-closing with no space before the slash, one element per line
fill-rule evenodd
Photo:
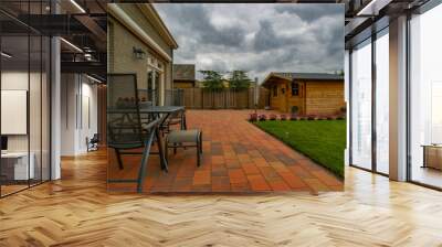
<path fill-rule="evenodd" d="M 267 120 L 255 125 L 344 178 L 345 120 Z"/>

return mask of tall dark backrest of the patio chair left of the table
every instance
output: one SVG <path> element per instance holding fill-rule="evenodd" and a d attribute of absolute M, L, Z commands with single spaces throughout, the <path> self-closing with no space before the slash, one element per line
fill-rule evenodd
<path fill-rule="evenodd" d="M 107 75 L 107 146 L 143 146 L 136 74 Z"/>

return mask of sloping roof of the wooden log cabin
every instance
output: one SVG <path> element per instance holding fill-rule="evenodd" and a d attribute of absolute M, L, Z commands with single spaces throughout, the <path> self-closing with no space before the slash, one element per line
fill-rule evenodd
<path fill-rule="evenodd" d="M 303 79 L 303 80 L 343 80 L 344 75 L 338 74 L 328 74 L 328 73 L 284 73 L 284 72 L 272 72 L 270 73 L 264 82 L 261 84 L 262 86 L 269 86 L 274 82 L 274 78 L 293 80 L 293 79 Z"/>

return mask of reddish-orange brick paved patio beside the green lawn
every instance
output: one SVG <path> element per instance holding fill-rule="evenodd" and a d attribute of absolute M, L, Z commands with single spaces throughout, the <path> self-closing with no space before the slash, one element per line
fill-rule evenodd
<path fill-rule="evenodd" d="M 246 118 L 252 110 L 188 110 L 188 127 L 203 132 L 203 159 L 197 167 L 193 148 L 169 152 L 169 173 L 158 157 L 149 158 L 146 193 L 159 192 L 287 192 L 341 191 L 343 181 Z M 267 111 L 265 111 L 269 114 Z M 126 157 L 119 171 L 109 153 L 109 178 L 135 178 L 139 158 Z M 134 190 L 113 184 L 109 190 Z"/>

